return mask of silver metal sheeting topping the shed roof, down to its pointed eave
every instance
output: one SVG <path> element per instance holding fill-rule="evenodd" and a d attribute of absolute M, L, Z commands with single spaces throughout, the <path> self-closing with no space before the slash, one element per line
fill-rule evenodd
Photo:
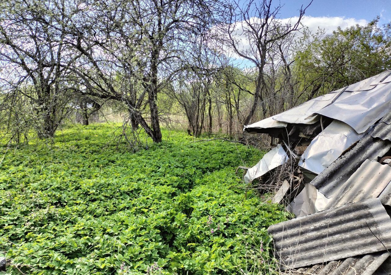
<path fill-rule="evenodd" d="M 284 127 L 277 122 L 314 124 L 320 115 L 338 119 L 357 133 L 364 133 L 384 116 L 391 107 L 390 71 L 369 77 L 345 88 L 321 95 L 290 110 L 244 126 L 244 131 Z"/>

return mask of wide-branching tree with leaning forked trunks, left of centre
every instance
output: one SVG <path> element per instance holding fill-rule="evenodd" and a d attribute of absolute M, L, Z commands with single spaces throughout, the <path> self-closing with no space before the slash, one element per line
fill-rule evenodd
<path fill-rule="evenodd" d="M 160 142 L 158 93 L 184 69 L 190 38 L 212 24 L 212 3 L 114 0 L 83 9 L 68 42 L 83 55 L 74 70 L 88 87 L 84 93 L 123 101 L 134 124 Z M 113 84 L 125 78 L 125 90 Z"/>

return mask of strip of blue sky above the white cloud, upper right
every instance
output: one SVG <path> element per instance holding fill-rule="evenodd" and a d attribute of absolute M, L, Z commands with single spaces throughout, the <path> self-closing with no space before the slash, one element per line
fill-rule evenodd
<path fill-rule="evenodd" d="M 281 0 L 280 3 L 284 5 L 281 9 L 281 18 L 297 15 L 300 6 L 306 6 L 309 2 L 309 0 Z M 314 17 L 341 16 L 366 21 L 381 15 L 380 23 L 383 24 L 391 21 L 391 0 L 314 0 L 306 14 Z"/>

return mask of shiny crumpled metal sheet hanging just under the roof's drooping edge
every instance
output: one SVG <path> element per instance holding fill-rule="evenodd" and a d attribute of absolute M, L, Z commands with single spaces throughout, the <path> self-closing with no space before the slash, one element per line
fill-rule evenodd
<path fill-rule="evenodd" d="M 312 140 L 301 156 L 299 166 L 320 174 L 362 135 L 348 124 L 334 120 Z"/>

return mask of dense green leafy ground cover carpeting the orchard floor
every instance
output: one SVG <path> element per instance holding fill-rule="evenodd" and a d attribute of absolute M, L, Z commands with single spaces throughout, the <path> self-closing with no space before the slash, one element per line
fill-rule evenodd
<path fill-rule="evenodd" d="M 9 274 L 271 273 L 266 228 L 283 221 L 235 175 L 255 149 L 164 141 L 132 153 L 115 126 L 72 126 L 10 149 L 0 166 L 0 255 Z M 246 194 L 246 196 L 245 196 Z"/>

